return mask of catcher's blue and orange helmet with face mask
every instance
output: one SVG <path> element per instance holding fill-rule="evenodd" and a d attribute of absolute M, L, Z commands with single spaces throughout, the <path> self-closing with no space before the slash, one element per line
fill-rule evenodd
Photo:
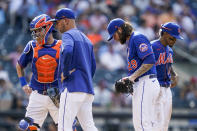
<path fill-rule="evenodd" d="M 41 46 L 47 42 L 49 34 L 53 30 L 53 22 L 50 20 L 50 16 L 42 14 L 35 17 L 30 23 L 31 35 Z"/>

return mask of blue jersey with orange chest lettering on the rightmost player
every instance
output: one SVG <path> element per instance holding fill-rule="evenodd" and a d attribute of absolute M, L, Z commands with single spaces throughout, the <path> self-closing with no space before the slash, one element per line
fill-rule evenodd
<path fill-rule="evenodd" d="M 160 85 L 170 86 L 170 71 L 173 63 L 173 51 L 169 46 L 164 46 L 159 40 L 151 42 L 155 54 L 157 79 Z"/>

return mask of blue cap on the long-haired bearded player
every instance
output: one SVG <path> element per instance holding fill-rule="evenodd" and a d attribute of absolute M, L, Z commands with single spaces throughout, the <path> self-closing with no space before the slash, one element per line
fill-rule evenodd
<path fill-rule="evenodd" d="M 110 41 L 113 38 L 114 33 L 118 30 L 118 27 L 121 27 L 125 21 L 121 18 L 113 19 L 109 22 L 107 26 L 107 31 L 109 33 L 108 41 Z"/>

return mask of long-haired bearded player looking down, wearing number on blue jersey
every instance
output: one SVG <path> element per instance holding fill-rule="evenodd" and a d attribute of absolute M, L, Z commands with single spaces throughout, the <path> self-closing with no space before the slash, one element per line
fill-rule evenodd
<path fill-rule="evenodd" d="M 107 27 L 109 38 L 120 44 L 127 44 L 128 77 L 133 82 L 133 123 L 136 131 L 158 131 L 155 120 L 156 100 L 159 96 L 159 82 L 156 76 L 155 58 L 148 39 L 134 32 L 130 23 L 116 18 Z"/>

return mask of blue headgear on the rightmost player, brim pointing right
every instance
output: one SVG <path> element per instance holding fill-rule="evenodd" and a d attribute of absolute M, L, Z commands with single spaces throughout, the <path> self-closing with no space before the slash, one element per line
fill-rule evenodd
<path fill-rule="evenodd" d="M 168 22 L 161 25 L 161 30 L 163 32 L 167 32 L 168 34 L 175 37 L 176 39 L 181 39 L 181 40 L 183 39 L 183 37 L 180 36 L 181 27 L 174 22 Z"/>

